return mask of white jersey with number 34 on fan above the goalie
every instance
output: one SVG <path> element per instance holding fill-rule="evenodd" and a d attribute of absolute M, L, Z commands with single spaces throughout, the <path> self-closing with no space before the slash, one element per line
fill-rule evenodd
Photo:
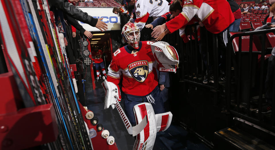
<path fill-rule="evenodd" d="M 160 17 L 169 12 L 169 5 L 166 0 L 136 0 L 135 10 L 136 20 L 134 23 L 142 30 L 148 17 Z"/>

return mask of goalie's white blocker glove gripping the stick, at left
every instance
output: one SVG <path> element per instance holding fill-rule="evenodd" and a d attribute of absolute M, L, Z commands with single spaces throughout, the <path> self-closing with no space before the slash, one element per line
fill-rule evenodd
<path fill-rule="evenodd" d="M 104 80 L 104 82 L 102 83 L 102 86 L 104 87 L 104 90 L 105 90 L 104 109 L 108 109 L 110 105 L 114 109 L 116 104 L 116 99 L 118 99 L 119 102 L 121 101 L 121 93 L 120 93 L 119 87 L 112 82 L 108 82 L 107 80 Z"/>

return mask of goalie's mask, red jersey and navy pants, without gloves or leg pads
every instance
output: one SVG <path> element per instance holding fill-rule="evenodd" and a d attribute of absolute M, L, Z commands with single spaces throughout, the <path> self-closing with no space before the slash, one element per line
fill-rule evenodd
<path fill-rule="evenodd" d="M 149 102 L 158 114 L 164 112 L 163 100 L 159 94 L 157 62 L 151 51 L 153 42 L 139 41 L 140 30 L 134 23 L 124 25 L 121 34 L 128 45 L 113 53 L 107 81 L 118 85 L 122 78 L 125 113 L 130 123 L 135 124 L 134 105 Z"/>

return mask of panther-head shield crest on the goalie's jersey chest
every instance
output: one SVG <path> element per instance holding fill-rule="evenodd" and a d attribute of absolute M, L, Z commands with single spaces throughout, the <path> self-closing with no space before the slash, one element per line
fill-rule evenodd
<path fill-rule="evenodd" d="M 143 83 L 148 76 L 148 61 L 140 60 L 130 63 L 128 70 L 136 81 Z"/>

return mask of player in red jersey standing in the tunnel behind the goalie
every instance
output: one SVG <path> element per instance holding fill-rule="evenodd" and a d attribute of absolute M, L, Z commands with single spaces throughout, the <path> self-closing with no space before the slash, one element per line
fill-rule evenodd
<path fill-rule="evenodd" d="M 105 71 L 105 66 L 102 57 L 102 51 L 98 49 L 97 47 L 94 48 L 94 51 L 91 53 L 93 57 L 93 63 L 95 65 L 95 70 L 96 70 L 96 80 L 99 80 L 99 75 L 100 75 L 100 68 L 102 70 L 102 73 L 105 77 L 106 76 L 106 71 Z"/>

